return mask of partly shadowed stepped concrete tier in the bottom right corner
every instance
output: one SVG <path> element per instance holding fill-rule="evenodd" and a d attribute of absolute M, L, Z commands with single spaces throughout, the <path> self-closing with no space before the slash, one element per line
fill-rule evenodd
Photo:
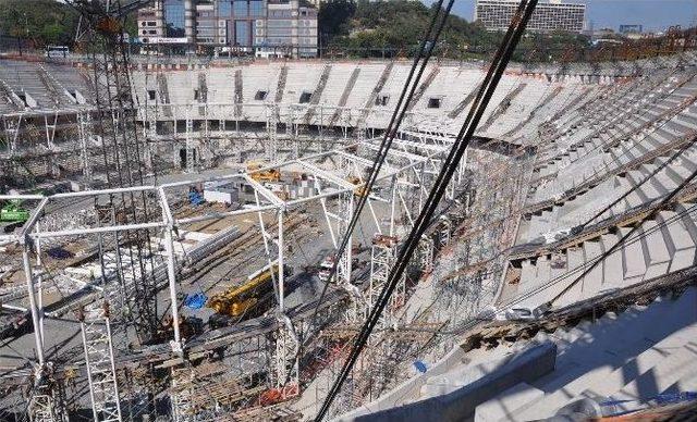
<path fill-rule="evenodd" d="M 479 405 L 475 421 L 530 421 L 550 418 L 562 407 L 596 398 L 632 410 L 659 394 L 694 390 L 697 385 L 697 291 L 689 288 L 676 300 L 657 298 L 621 314 L 536 340 L 558 346 L 555 370 L 521 383 Z"/>

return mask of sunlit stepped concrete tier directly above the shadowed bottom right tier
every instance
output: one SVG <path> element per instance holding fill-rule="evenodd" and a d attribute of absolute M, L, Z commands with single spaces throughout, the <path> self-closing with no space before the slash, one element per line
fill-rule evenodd
<path fill-rule="evenodd" d="M 554 216 L 549 218 L 553 224 Z M 521 262 L 521 276 L 514 287 L 525 299 L 518 305 L 535 308 L 574 282 L 604 251 L 629 232 L 620 227 L 554 256 L 541 256 Z M 616 288 L 660 277 L 695 264 L 697 245 L 697 206 L 678 203 L 646 221 L 624 246 L 597 264 L 589 274 L 561 297 L 563 307 Z"/>

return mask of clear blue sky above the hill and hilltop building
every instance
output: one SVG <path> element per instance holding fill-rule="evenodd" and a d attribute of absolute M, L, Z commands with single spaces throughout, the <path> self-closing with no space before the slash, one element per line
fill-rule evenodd
<path fill-rule="evenodd" d="M 433 0 L 423 0 L 432 3 Z M 541 1 L 541 0 L 540 0 Z M 617 29 L 621 24 L 639 24 L 645 29 L 664 29 L 671 25 L 683 27 L 697 24 L 697 0 L 564 0 L 585 3 L 586 20 L 594 28 Z M 470 21 L 475 0 L 455 0 L 453 11 Z"/>

